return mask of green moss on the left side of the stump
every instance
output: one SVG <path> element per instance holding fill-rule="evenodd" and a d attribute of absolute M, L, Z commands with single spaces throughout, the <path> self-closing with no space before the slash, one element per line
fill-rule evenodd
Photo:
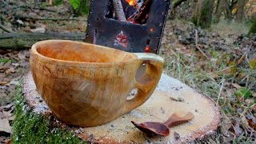
<path fill-rule="evenodd" d="M 35 114 L 25 104 L 21 86 L 15 94 L 15 119 L 12 143 L 82 143 L 80 139 L 58 127 L 52 127 L 42 115 Z"/>

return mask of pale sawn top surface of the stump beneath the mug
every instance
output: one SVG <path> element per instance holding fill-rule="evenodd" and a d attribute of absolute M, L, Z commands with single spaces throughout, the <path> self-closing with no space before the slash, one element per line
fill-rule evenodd
<path fill-rule="evenodd" d="M 38 94 L 31 73 L 26 74 L 24 78 L 22 92 L 27 104 L 35 113 L 45 115 L 46 118 L 53 115 Z M 175 99 L 182 99 L 184 102 L 176 102 Z M 179 111 L 192 112 L 194 118 L 190 122 L 170 128 L 170 135 L 167 137 L 150 138 L 130 122 L 165 122 L 171 114 Z M 177 79 L 162 74 L 154 94 L 142 106 L 130 113 L 102 126 L 67 127 L 86 142 L 180 143 L 205 140 L 216 134 L 219 124 L 220 113 L 214 101 L 198 94 Z M 175 138 L 174 132 L 178 133 L 180 138 Z"/>

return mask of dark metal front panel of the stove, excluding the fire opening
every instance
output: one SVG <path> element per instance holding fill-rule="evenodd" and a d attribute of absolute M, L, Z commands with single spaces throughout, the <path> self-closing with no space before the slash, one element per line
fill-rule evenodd
<path fill-rule="evenodd" d="M 90 0 L 90 13 L 86 28 L 86 42 L 108 46 L 128 52 L 158 54 L 166 24 L 170 0 L 152 0 L 146 25 L 120 22 L 105 18 L 108 0 Z M 114 39 L 121 32 L 126 34 L 127 46 L 114 46 Z M 153 30 L 153 31 L 152 31 Z M 149 50 L 146 50 L 146 46 Z"/>

